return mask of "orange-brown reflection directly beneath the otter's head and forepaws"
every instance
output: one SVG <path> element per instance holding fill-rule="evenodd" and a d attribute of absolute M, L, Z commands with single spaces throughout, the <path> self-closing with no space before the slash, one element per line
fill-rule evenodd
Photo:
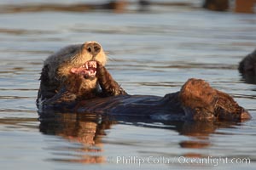
<path fill-rule="evenodd" d="M 54 113 L 40 116 L 40 132 L 44 134 L 61 136 L 70 142 L 82 144 L 82 147 L 74 148 L 79 152 L 79 158 L 55 159 L 55 161 L 72 161 L 82 163 L 102 163 L 105 158 L 102 156 L 102 136 L 114 123 L 93 114 L 79 115 L 74 113 Z M 68 148 L 68 150 L 72 150 Z"/>

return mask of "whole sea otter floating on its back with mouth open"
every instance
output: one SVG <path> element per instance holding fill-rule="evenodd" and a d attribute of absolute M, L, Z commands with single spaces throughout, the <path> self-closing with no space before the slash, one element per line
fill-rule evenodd
<path fill-rule="evenodd" d="M 67 46 L 44 61 L 38 90 L 38 113 L 53 111 L 140 116 L 153 120 L 250 119 L 228 94 L 191 78 L 179 92 L 164 97 L 130 95 L 105 68 L 107 56 L 98 42 Z"/>

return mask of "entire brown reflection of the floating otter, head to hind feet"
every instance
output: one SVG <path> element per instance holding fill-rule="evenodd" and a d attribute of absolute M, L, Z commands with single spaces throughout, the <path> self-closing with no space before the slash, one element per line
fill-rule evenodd
<path fill-rule="evenodd" d="M 57 135 L 70 142 L 82 144 L 75 148 L 79 157 L 75 159 L 55 159 L 54 161 L 71 161 L 80 163 L 104 163 L 106 156 L 102 154 L 102 138 L 107 135 L 106 130 L 111 129 L 114 124 L 127 124 L 130 126 L 143 126 L 152 128 L 164 128 L 174 130 L 184 135 L 186 140 L 180 141 L 182 148 L 199 149 L 211 146 L 209 134 L 216 133 L 218 128 L 233 127 L 234 122 L 160 122 L 156 126 L 153 120 L 145 117 L 128 116 L 98 116 L 95 114 L 74 113 L 44 113 L 40 116 L 40 132 L 44 134 Z M 125 133 L 125 132 L 124 132 Z M 69 148 L 69 150 L 71 150 Z M 204 157 L 195 152 L 189 152 L 183 156 Z"/>

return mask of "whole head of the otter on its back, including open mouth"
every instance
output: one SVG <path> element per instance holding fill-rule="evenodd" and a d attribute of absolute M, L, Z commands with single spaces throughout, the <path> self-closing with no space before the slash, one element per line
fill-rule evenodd
<path fill-rule="evenodd" d="M 55 94 L 68 83 L 73 86 L 72 83 L 78 82 L 78 79 L 79 88 L 87 91 L 96 88 L 96 62 L 102 65 L 107 62 L 107 56 L 98 42 L 85 42 L 61 48 L 44 61 L 41 94 L 49 98 L 49 92 Z"/>

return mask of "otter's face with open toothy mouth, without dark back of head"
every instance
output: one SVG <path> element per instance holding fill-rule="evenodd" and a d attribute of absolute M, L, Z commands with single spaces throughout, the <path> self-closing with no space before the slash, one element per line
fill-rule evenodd
<path fill-rule="evenodd" d="M 96 78 L 96 61 L 105 65 L 107 57 L 97 42 L 85 42 L 82 45 L 68 46 L 56 54 L 59 59 L 56 68 L 57 77 L 79 75 L 84 79 Z"/>

